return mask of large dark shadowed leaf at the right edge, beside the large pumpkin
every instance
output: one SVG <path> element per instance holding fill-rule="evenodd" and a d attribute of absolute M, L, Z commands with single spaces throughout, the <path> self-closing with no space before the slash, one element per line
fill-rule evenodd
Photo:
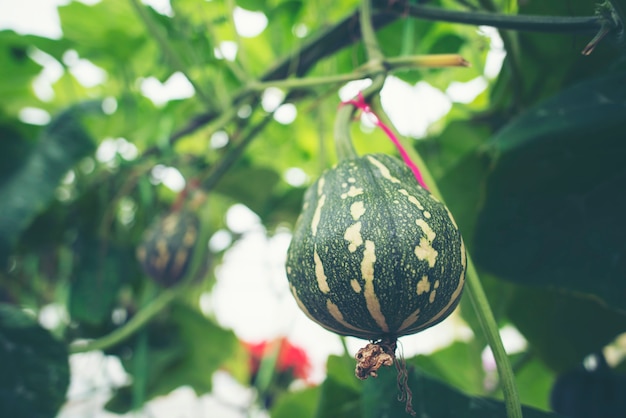
<path fill-rule="evenodd" d="M 626 85 L 572 87 L 493 138 L 496 164 L 475 233 L 479 265 L 626 308 Z"/>

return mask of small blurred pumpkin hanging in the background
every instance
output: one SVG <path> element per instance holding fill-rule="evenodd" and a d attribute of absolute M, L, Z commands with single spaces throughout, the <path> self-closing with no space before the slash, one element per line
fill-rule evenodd
<path fill-rule="evenodd" d="M 190 211 L 172 212 L 157 219 L 137 248 L 144 272 L 165 287 L 178 283 L 189 267 L 199 227 L 198 217 Z"/>

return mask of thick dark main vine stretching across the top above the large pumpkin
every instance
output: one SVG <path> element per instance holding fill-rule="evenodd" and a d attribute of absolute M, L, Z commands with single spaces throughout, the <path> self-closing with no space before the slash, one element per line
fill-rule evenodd
<path fill-rule="evenodd" d="M 136 0 L 130 0 L 136 1 Z M 611 16 L 595 14 L 593 16 L 529 16 L 529 15 L 504 15 L 494 12 L 457 11 L 446 10 L 439 7 L 413 4 L 406 1 L 389 2 L 388 0 L 376 0 L 373 2 L 371 12 L 371 26 L 374 31 L 393 23 L 399 18 L 410 16 L 415 19 L 433 20 L 441 22 L 459 23 L 475 26 L 493 26 L 497 29 L 509 29 L 517 31 L 533 31 L 547 33 L 600 33 L 610 28 L 610 32 L 619 31 L 623 27 L 622 15 L 619 9 L 614 7 L 613 2 L 608 2 L 610 10 L 614 11 Z M 350 80 L 375 76 L 375 71 L 367 67 L 357 68 L 353 73 L 333 75 L 328 77 L 302 78 L 320 60 L 331 56 L 339 50 L 359 42 L 362 34 L 355 22 L 360 21 L 360 11 L 357 10 L 338 22 L 335 26 L 321 32 L 311 38 L 302 47 L 288 57 L 279 61 L 257 80 L 249 81 L 232 96 L 229 106 L 224 111 L 208 110 L 191 119 L 185 126 L 174 132 L 170 138 L 170 144 L 174 144 L 180 138 L 189 135 L 203 126 L 213 123 L 215 126 L 225 125 L 234 116 L 228 109 L 237 109 L 243 102 L 258 101 L 259 94 L 267 87 L 279 87 L 288 89 L 302 89 L 324 84 L 338 84 Z M 320 48 L 319 45 L 324 45 Z M 418 57 L 414 62 L 406 58 L 387 59 L 382 64 L 401 68 L 417 68 L 423 65 Z M 394 62 L 395 61 L 395 62 Z M 393 69 L 393 68 L 392 68 Z M 293 77 L 293 78 L 292 78 Z M 223 113 L 228 113 L 224 115 Z M 236 112 L 235 112 L 236 113 Z M 217 123 L 219 122 L 219 123 Z M 157 148 L 146 150 L 144 155 L 157 153 Z"/>

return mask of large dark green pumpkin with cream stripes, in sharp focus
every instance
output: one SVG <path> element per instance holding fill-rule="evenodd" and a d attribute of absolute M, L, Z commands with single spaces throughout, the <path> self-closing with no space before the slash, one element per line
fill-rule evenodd
<path fill-rule="evenodd" d="M 373 154 L 339 162 L 307 190 L 286 270 L 309 318 L 378 340 L 452 313 L 466 254 L 448 209 L 400 160 Z"/>

